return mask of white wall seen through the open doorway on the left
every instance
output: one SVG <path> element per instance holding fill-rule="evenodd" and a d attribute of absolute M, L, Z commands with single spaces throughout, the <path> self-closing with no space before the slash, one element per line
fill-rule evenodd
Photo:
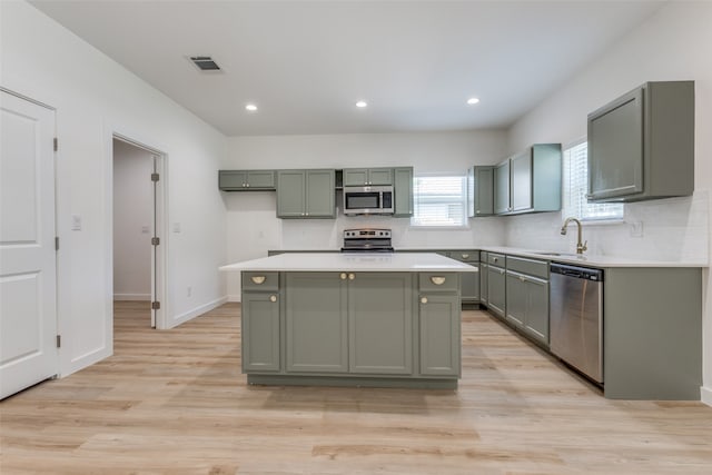
<path fill-rule="evenodd" d="M 113 299 L 151 297 L 154 155 L 113 140 Z"/>

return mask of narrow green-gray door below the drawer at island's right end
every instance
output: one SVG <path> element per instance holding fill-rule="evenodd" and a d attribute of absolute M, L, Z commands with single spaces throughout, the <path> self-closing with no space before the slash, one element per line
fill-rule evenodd
<path fill-rule="evenodd" d="M 421 374 L 457 376 L 461 368 L 456 295 L 421 295 Z"/>

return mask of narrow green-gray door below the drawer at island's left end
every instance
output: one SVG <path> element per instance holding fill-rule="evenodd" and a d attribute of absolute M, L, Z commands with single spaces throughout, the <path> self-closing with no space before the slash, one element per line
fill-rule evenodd
<path fill-rule="evenodd" d="M 243 372 L 278 372 L 279 294 L 243 293 Z"/>

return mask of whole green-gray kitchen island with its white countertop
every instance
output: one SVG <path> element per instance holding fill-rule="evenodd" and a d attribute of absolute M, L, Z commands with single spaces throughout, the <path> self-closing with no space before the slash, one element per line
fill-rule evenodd
<path fill-rule="evenodd" d="M 455 388 L 459 276 L 436 254 L 283 254 L 241 273 L 249 384 Z"/>

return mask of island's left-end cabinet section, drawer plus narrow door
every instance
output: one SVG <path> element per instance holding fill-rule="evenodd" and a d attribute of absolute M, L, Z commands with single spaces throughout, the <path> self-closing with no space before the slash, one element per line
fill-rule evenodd
<path fill-rule="evenodd" d="M 243 372 L 279 372 L 279 277 L 243 273 Z"/>

